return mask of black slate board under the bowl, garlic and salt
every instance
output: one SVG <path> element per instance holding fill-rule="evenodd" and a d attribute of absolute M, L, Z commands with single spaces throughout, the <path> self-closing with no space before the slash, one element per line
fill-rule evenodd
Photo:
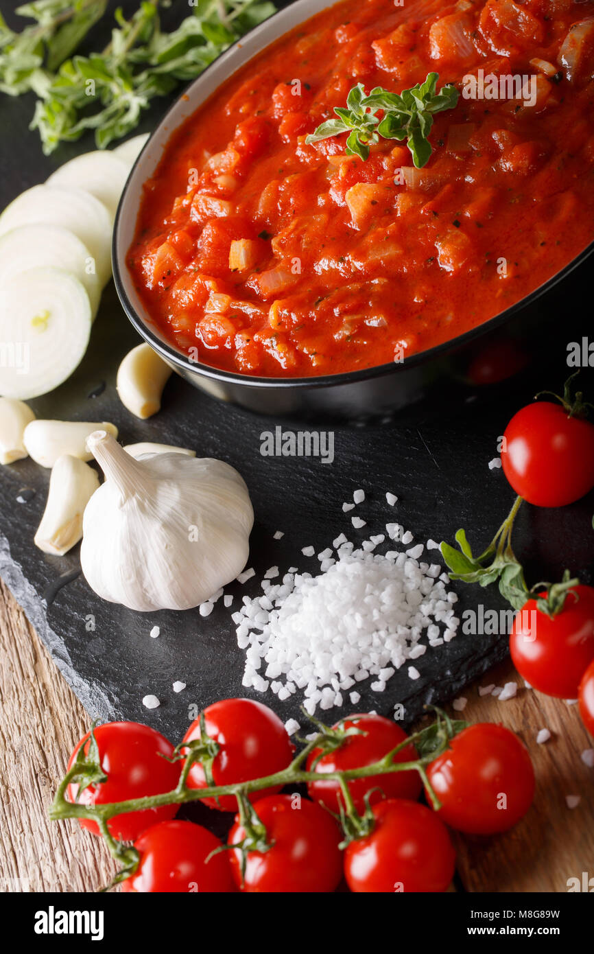
<path fill-rule="evenodd" d="M 141 128 L 151 129 L 165 106 L 166 101 L 157 103 Z M 2 206 L 24 188 L 43 181 L 72 155 L 93 148 L 88 138 L 44 158 L 37 135 L 27 129 L 31 107 L 29 97 L 4 97 L 0 103 L 0 128 L 10 129 L 10 153 L 3 156 L 0 181 Z M 584 269 L 581 277 L 572 278 L 576 302 L 585 278 Z M 566 340 L 579 338 L 583 329 L 571 308 L 563 321 Z M 136 342 L 110 285 L 86 359 L 67 384 L 31 404 L 38 417 L 113 421 L 123 443 L 154 440 L 192 446 L 200 456 L 221 457 L 237 467 L 250 487 L 256 510 L 250 565 L 259 576 L 245 588 L 231 588 L 236 604 L 242 592 L 259 591 L 257 581 L 271 565 L 278 564 L 281 571 L 291 565 L 317 568 L 316 558 L 306 560 L 301 548 L 312 544 L 317 551 L 323 550 L 341 530 L 358 540 L 397 520 L 415 533 L 416 542 L 424 542 L 428 537 L 452 539 L 463 526 L 477 549 L 482 548 L 513 501 L 502 471 L 491 471 L 487 464 L 496 455 L 497 436 L 511 414 L 534 393 L 533 381 L 509 384 L 497 392 L 497 399 L 485 393 L 466 403 L 420 405 L 384 425 L 334 425 L 335 461 L 324 465 L 313 459 L 262 457 L 262 431 L 277 424 L 296 429 L 298 422 L 259 418 L 217 403 L 176 377 L 167 385 L 157 417 L 145 423 L 133 419 L 119 404 L 114 378 L 117 364 Z M 537 362 L 540 384 L 560 386 L 567 373 L 564 351 L 551 354 L 550 342 L 544 344 L 553 361 L 554 377 L 544 372 L 544 363 Z M 535 342 L 535 348 L 538 346 L 543 344 Z M 241 688 L 243 653 L 236 647 L 230 612 L 223 609 L 222 601 L 206 619 L 197 610 L 130 612 L 102 602 L 92 593 L 77 574 L 77 548 L 62 558 L 36 550 L 32 538 L 45 506 L 48 476 L 48 471 L 29 460 L 2 468 L 0 574 L 90 716 L 148 722 L 176 741 L 187 727 L 191 707 L 202 708 L 230 695 L 252 695 L 271 703 L 283 719 L 293 716 L 303 723 L 297 695 L 279 703 L 272 694 L 262 696 Z M 365 504 L 356 511 L 367 520 L 364 531 L 353 531 L 352 514 L 344 515 L 341 510 L 342 502 L 351 500 L 357 487 L 367 494 Z M 25 494 L 23 488 L 29 488 Z M 399 496 L 394 509 L 386 504 L 386 490 Z M 19 496 L 29 499 L 18 503 Z M 584 582 L 589 581 L 594 556 L 593 508 L 590 494 L 559 511 L 522 509 L 515 544 L 529 579 L 558 578 L 568 566 Z M 280 541 L 273 539 L 277 529 L 285 533 Z M 478 603 L 494 609 L 505 606 L 493 588 L 458 589 L 461 612 Z M 161 630 L 157 639 L 149 635 L 154 625 Z M 411 681 L 400 671 L 384 694 L 364 691 L 359 709 L 376 708 L 388 714 L 399 702 L 405 707 L 405 721 L 410 722 L 420 715 L 425 702 L 451 698 L 468 680 L 501 660 L 506 646 L 505 636 L 460 634 L 449 645 L 420 659 L 419 680 Z M 172 689 L 177 679 L 187 683 L 179 695 Z M 151 712 L 141 702 L 148 693 L 161 701 Z"/>

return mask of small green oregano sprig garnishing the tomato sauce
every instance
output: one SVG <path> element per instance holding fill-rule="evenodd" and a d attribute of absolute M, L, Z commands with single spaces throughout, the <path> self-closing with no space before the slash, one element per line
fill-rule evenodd
<path fill-rule="evenodd" d="M 401 93 L 390 93 L 376 86 L 369 95 L 365 95 L 362 83 L 358 83 L 347 96 L 346 109 L 335 107 L 337 118 L 321 123 L 305 141 L 319 142 L 348 132 L 346 155 L 365 160 L 369 156 L 369 147 L 379 142 L 379 136 L 399 141 L 406 139 L 413 162 L 417 169 L 421 169 L 432 153 L 429 134 L 433 116 L 454 109 L 460 96 L 451 84 L 441 87 L 438 93 L 439 78 L 439 73 L 428 73 L 423 83 Z"/>

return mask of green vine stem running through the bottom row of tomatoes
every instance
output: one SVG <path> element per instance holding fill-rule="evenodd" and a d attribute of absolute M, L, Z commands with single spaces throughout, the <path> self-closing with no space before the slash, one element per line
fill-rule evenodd
<path fill-rule="evenodd" d="M 371 765 L 362 765 L 357 768 L 346 769 L 343 772 L 324 773 L 324 778 L 337 780 L 344 793 L 345 790 L 348 790 L 345 783 L 353 778 L 389 775 L 392 772 L 417 771 L 420 774 L 420 778 L 423 781 L 433 807 L 439 809 L 440 800 L 429 783 L 425 767 L 449 748 L 451 739 L 466 727 L 466 722 L 458 719 L 452 721 L 439 709 L 435 707 L 431 708 L 435 709 L 436 720 L 419 732 L 405 738 L 391 752 L 388 752 L 377 762 Z M 307 713 L 304 713 L 304 715 L 307 716 Z M 116 815 L 123 815 L 128 812 L 140 812 L 149 808 L 159 808 L 163 805 L 185 804 L 204 798 L 220 798 L 225 795 L 234 795 L 237 798 L 239 815 L 247 825 L 246 843 L 242 846 L 235 847 L 243 849 L 242 855 L 245 855 L 250 850 L 265 851 L 270 847 L 270 844 L 266 839 L 266 833 L 263 830 L 260 819 L 257 817 L 256 811 L 250 807 L 248 796 L 251 792 L 257 792 L 262 789 L 283 787 L 285 785 L 294 786 L 304 782 L 319 780 L 317 772 L 306 771 L 303 769 L 303 765 L 307 757 L 316 749 L 321 749 L 323 753 L 327 747 L 331 747 L 332 751 L 334 751 L 334 749 L 337 748 L 336 743 L 338 736 L 330 727 L 317 722 L 317 720 L 316 725 L 319 730 L 316 736 L 310 739 L 300 752 L 297 753 L 296 757 L 294 757 L 286 769 L 275 772 L 273 775 L 265 776 L 264 778 L 253 778 L 250 781 L 236 782 L 228 785 L 209 784 L 206 788 L 189 788 L 187 779 L 195 761 L 200 761 L 205 755 L 206 757 L 213 757 L 215 755 L 214 746 L 216 742 L 204 733 L 199 740 L 196 740 L 198 744 L 195 746 L 188 746 L 187 743 L 181 743 L 180 746 L 177 747 L 175 757 L 184 757 L 184 764 L 180 772 L 179 781 L 173 791 L 163 792 L 160 795 L 148 795 L 143 798 L 130 798 L 127 801 L 81 804 L 78 801 L 70 801 L 67 798 L 69 785 L 72 783 L 89 785 L 93 782 L 98 783 L 105 781 L 107 778 L 100 765 L 98 747 L 91 732 L 88 748 L 87 746 L 81 746 L 79 757 L 76 758 L 71 769 L 61 780 L 51 804 L 49 816 L 53 821 L 62 819 L 89 819 L 97 824 L 99 832 L 106 841 L 113 858 L 118 864 L 122 865 L 121 870 L 116 874 L 112 884 L 125 881 L 126 878 L 133 875 L 140 861 L 136 849 L 121 841 L 115 840 L 109 830 L 110 819 L 113 819 Z M 347 730 L 342 737 L 342 742 L 348 737 L 350 737 L 350 734 Z M 418 758 L 407 762 L 396 761 L 395 759 L 401 750 L 411 745 L 411 743 L 417 749 Z M 85 748 L 87 748 L 86 753 L 82 751 Z M 352 799 L 347 798 L 346 802 L 347 807 L 343 812 L 346 819 L 344 820 L 345 838 L 346 840 L 352 839 L 356 831 L 360 833 L 358 837 L 362 837 L 363 833 L 367 834 L 370 830 L 370 819 L 366 818 L 364 824 L 361 824 L 360 820 L 355 816 Z"/>

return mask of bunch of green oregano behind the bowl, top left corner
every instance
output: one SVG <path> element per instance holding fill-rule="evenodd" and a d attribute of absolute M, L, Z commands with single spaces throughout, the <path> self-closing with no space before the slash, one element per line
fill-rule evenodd
<path fill-rule="evenodd" d="M 129 19 L 116 10 L 110 44 L 89 56 L 76 50 L 106 0 L 37 0 L 17 10 L 37 21 L 20 32 L 0 17 L 0 91 L 37 94 L 31 128 L 46 155 L 87 130 L 100 149 L 132 132 L 154 97 L 194 79 L 276 11 L 256 0 L 196 0 L 166 32 L 159 10 L 170 6 L 171 0 L 142 0 Z"/>

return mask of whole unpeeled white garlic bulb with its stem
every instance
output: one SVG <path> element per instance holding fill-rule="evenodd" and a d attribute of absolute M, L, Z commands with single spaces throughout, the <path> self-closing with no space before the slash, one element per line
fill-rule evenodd
<path fill-rule="evenodd" d="M 88 445 L 105 473 L 83 519 L 92 590 L 131 610 L 188 610 L 245 567 L 254 511 L 228 464 L 178 453 L 135 460 L 105 431 Z"/>

